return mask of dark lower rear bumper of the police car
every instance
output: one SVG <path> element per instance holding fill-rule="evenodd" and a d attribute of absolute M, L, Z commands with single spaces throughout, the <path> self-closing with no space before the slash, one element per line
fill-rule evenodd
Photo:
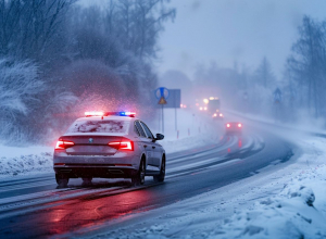
<path fill-rule="evenodd" d="M 55 174 L 63 174 L 68 178 L 101 177 L 101 178 L 128 178 L 137 174 L 133 166 L 114 165 L 62 165 L 53 167 Z"/>

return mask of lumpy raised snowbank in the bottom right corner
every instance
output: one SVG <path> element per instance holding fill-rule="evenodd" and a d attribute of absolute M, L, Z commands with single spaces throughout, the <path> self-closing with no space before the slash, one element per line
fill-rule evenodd
<path fill-rule="evenodd" d="M 301 172 L 278 196 L 237 212 L 209 238 L 326 238 L 326 164 Z"/>

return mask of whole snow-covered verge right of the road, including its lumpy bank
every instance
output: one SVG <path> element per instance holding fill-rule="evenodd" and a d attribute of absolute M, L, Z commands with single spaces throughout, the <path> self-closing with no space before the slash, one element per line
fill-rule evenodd
<path fill-rule="evenodd" d="M 324 138 L 301 140 L 294 163 L 145 213 L 138 224 L 97 237 L 326 238 L 325 144 Z"/>

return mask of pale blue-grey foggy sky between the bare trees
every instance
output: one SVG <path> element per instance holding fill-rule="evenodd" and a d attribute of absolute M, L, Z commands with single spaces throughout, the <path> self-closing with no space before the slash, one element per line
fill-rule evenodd
<path fill-rule="evenodd" d="M 325 0 L 172 0 L 174 23 L 161 35 L 160 74 L 179 70 L 192 77 L 195 66 L 246 65 L 255 70 L 266 56 L 280 78 L 304 14 L 326 18 Z"/>

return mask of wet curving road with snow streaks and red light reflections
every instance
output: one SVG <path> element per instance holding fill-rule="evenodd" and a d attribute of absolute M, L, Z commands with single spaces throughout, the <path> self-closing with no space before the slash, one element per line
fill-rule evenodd
<path fill-rule="evenodd" d="M 253 127 L 242 137 L 167 155 L 164 184 L 149 177 L 138 188 L 104 179 L 83 187 L 80 179 L 72 179 L 67 189 L 55 189 L 53 174 L 8 179 L 0 184 L 0 237 L 72 237 L 110 223 L 131 223 L 138 213 L 239 181 L 291 155 L 286 140 Z"/>

